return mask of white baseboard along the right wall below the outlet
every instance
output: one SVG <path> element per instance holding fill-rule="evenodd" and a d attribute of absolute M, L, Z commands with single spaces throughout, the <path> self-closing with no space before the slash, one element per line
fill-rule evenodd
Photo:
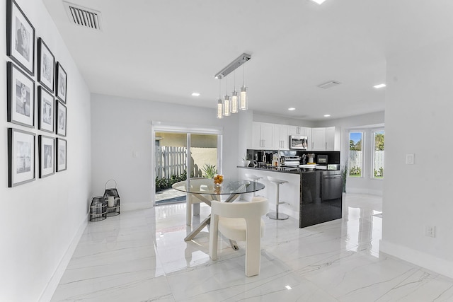
<path fill-rule="evenodd" d="M 453 278 L 453 262 L 434 257 L 420 252 L 419 250 L 413 250 L 403 245 L 397 245 L 389 243 L 388 241 L 381 240 L 379 243 L 379 251 L 385 252 L 391 256 L 397 257 L 401 260 L 411 262 L 419 267 L 424 267 L 432 272 L 443 274 L 446 277 Z"/>

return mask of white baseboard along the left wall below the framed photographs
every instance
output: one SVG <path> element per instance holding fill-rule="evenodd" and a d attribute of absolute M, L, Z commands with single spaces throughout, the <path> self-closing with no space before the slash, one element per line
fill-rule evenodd
<path fill-rule="evenodd" d="M 84 234 L 87 225 L 88 215 L 86 215 L 86 218 L 79 226 L 79 230 L 77 231 L 76 235 L 74 236 L 74 238 L 72 238 L 72 241 L 69 244 L 68 249 L 64 253 L 62 260 L 59 262 L 57 269 L 55 269 L 54 274 L 52 274 L 52 277 L 50 277 L 50 280 L 47 283 L 47 286 L 45 287 L 44 291 L 42 291 L 42 294 L 38 301 L 50 301 L 52 299 L 52 296 L 54 295 L 55 290 L 57 289 L 59 281 L 62 279 L 64 271 L 66 270 L 69 261 L 71 261 L 71 257 L 72 255 L 74 255 L 74 251 L 76 250 L 76 247 L 79 244 L 80 238 Z"/>

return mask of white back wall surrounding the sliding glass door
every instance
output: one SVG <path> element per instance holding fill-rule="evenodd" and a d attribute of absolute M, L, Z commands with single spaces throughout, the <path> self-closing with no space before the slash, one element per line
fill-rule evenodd
<path fill-rule="evenodd" d="M 217 120 L 210 108 L 91 95 L 91 156 L 93 191 L 102 195 L 105 182 L 117 181 L 122 209 L 151 207 L 151 123 L 223 127 L 223 173 L 237 176 L 238 116 Z M 188 98 L 190 103 L 190 98 Z M 132 153 L 137 151 L 138 157 Z M 109 185 L 110 187 L 110 185 Z"/>

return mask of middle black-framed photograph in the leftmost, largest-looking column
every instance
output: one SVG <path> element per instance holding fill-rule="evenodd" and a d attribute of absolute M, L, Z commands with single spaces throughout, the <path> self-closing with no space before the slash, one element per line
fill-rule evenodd
<path fill-rule="evenodd" d="M 8 62 L 8 122 L 35 127 L 35 81 Z"/>

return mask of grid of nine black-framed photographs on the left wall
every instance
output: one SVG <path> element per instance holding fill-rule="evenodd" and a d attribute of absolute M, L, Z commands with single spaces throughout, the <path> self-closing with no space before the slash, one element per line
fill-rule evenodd
<path fill-rule="evenodd" d="M 68 75 L 15 0 L 6 0 L 6 27 L 8 187 L 15 187 L 36 180 L 35 163 L 39 178 L 67 170 Z"/>

